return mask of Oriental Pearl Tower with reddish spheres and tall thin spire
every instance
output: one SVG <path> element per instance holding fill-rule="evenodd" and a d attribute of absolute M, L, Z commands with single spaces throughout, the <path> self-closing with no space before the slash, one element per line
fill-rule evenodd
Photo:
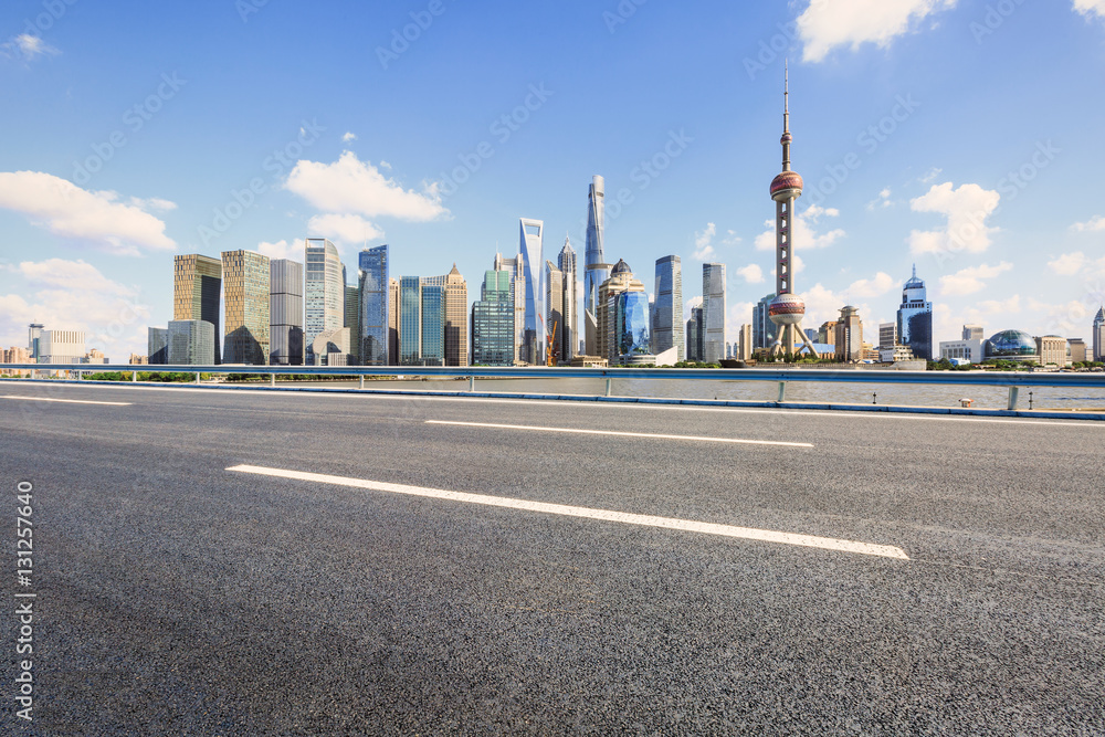
<path fill-rule="evenodd" d="M 793 293 L 793 272 L 790 260 L 793 245 L 790 242 L 792 219 L 794 217 L 794 200 L 802 196 L 802 178 L 797 171 L 790 170 L 790 69 L 786 72 L 786 84 L 782 93 L 782 172 L 771 180 L 771 199 L 775 200 L 775 292 L 776 297 L 768 306 L 768 316 L 778 327 L 778 337 L 770 348 L 771 356 L 786 356 L 796 352 L 794 346 L 803 344 L 797 352 L 809 349 L 817 357 L 817 350 L 806 335 L 802 317 L 806 315 L 806 303 Z"/>

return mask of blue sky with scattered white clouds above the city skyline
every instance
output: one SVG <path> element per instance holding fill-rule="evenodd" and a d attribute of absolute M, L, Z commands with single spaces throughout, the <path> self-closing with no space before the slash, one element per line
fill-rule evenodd
<path fill-rule="evenodd" d="M 876 330 L 915 262 L 938 339 L 1105 301 L 1105 0 L 8 0 L 0 38 L 4 346 L 145 354 L 175 253 L 306 236 L 474 299 L 518 218 L 582 255 L 596 173 L 608 260 L 678 254 L 687 302 L 727 264 L 732 339 L 774 291 L 785 57 L 807 327 Z"/>

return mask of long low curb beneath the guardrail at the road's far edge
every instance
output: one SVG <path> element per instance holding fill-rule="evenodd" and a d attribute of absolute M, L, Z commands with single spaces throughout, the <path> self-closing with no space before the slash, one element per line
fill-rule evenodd
<path fill-rule="evenodd" d="M 28 382 L 29 379 L 0 378 L 7 382 Z M 80 386 L 101 387 L 154 387 L 159 389 L 220 389 L 228 391 L 284 391 L 284 392 L 307 392 L 307 393 L 329 393 L 329 394 L 380 394 L 393 397 L 451 397 L 451 398 L 476 398 L 476 399 L 532 399 L 541 401 L 564 401 L 564 402 L 611 402 L 617 404 L 662 404 L 662 406 L 685 406 L 685 407 L 735 407 L 735 408 L 760 408 L 779 410 L 824 410 L 824 411 L 846 411 L 846 412 L 886 412 L 901 414 L 947 414 L 965 417 L 990 417 L 990 418 L 1023 418 L 1035 420 L 1088 420 L 1105 421 L 1105 412 L 1055 412 L 1046 410 L 987 410 L 959 407 L 893 407 L 890 404 L 834 404 L 818 402 L 755 402 L 724 399 L 660 399 L 654 397 L 601 397 L 593 394 L 527 394 L 527 393 L 504 393 L 487 391 L 418 391 L 414 389 L 358 389 L 358 388 L 326 388 L 326 387 L 270 387 L 266 383 L 259 385 L 196 385 L 196 383 L 162 383 L 159 381 L 77 381 L 75 379 L 43 379 L 35 380 L 43 383 L 64 383 Z"/>

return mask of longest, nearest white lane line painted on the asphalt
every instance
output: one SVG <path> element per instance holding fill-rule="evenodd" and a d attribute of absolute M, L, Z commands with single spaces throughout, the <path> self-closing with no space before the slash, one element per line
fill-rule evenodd
<path fill-rule="evenodd" d="M 561 515 L 565 517 L 583 517 L 587 519 L 617 522 L 627 525 L 642 525 L 644 527 L 663 527 L 666 529 L 678 529 L 686 533 L 704 533 L 706 535 L 722 535 L 725 537 L 736 537 L 745 540 L 779 543 L 781 545 L 796 545 L 807 548 L 820 548 L 822 550 L 856 552 L 865 556 L 878 556 L 881 558 L 895 558 L 898 560 L 909 560 L 909 556 L 905 554 L 905 550 L 891 545 L 873 545 L 871 543 L 857 543 L 855 540 L 838 540 L 831 537 L 813 537 L 811 535 L 793 535 L 791 533 L 777 533 L 767 529 L 755 529 L 753 527 L 734 527 L 732 525 L 715 525 L 705 522 L 674 519 L 672 517 L 653 517 L 649 515 L 628 514 L 624 512 L 610 512 L 607 509 L 571 507 L 571 506 L 565 506 L 562 504 L 527 502 L 526 499 L 513 499 L 503 496 L 487 496 L 485 494 L 446 492 L 440 488 L 424 488 L 422 486 L 404 486 L 402 484 L 387 484 L 378 481 L 347 478 L 345 476 L 329 476 L 318 473 L 304 473 L 302 471 L 284 471 L 283 468 L 266 468 L 263 466 L 236 465 L 227 468 L 227 471 L 233 471 L 236 473 L 249 473 L 260 476 L 275 476 L 276 478 L 293 478 L 296 481 L 309 481 L 318 484 L 334 484 L 337 486 L 349 486 L 352 488 L 366 488 L 373 492 L 387 492 L 390 494 L 406 494 L 408 496 L 423 496 L 434 499 L 446 499 L 450 502 L 463 502 L 465 504 L 481 504 L 491 507 L 505 507 L 507 509 L 522 509 L 525 512 L 543 512 L 545 514 Z"/>

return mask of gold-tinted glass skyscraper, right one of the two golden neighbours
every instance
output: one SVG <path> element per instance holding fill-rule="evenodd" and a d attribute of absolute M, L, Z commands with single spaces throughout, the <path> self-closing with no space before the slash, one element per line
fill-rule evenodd
<path fill-rule="evenodd" d="M 267 366 L 269 256 L 253 251 L 223 251 L 222 274 L 227 293 L 222 360 L 224 364 Z M 171 333 L 169 339 L 171 354 Z"/>

